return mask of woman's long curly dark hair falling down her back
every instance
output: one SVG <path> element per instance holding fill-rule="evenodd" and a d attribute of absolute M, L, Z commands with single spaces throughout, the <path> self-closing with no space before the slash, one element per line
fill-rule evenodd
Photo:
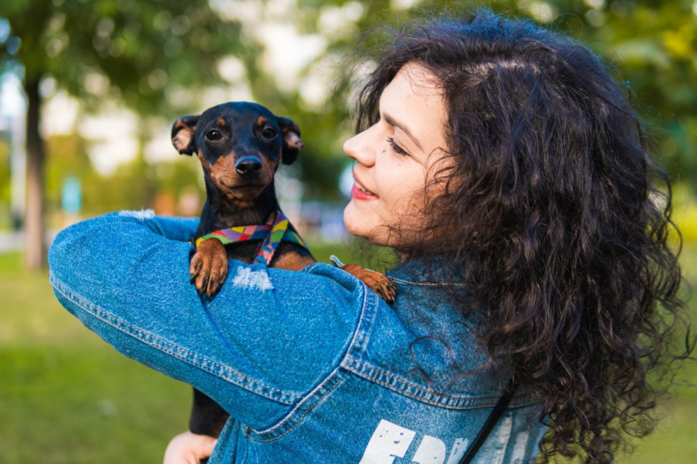
<path fill-rule="evenodd" d="M 579 42 L 484 10 L 400 31 L 358 94 L 359 131 L 410 62 L 442 88 L 453 162 L 401 253 L 449 252 L 475 293 L 454 301 L 486 314 L 491 357 L 539 399 L 545 460 L 611 461 L 626 433 L 652 430 L 694 347 L 671 185 L 627 90 Z"/>

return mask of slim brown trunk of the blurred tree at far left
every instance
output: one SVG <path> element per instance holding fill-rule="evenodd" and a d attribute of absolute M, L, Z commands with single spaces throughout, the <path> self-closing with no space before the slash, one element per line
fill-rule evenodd
<path fill-rule="evenodd" d="M 26 111 L 26 211 L 24 232 L 26 233 L 26 267 L 41 269 L 46 262 L 44 245 L 44 141 L 39 131 L 41 95 L 39 79 L 24 83 L 28 100 Z"/>

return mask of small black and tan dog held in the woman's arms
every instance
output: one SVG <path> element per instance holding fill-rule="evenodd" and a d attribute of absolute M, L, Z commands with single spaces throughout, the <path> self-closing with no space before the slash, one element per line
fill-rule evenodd
<path fill-rule="evenodd" d="M 295 122 L 256 103 L 228 102 L 201 115 L 179 118 L 171 137 L 180 154 L 197 154 L 204 169 L 207 197 L 189 270 L 202 297 L 212 298 L 220 290 L 227 277 L 228 259 L 249 264 L 266 255 L 271 256 L 269 266 L 291 271 L 315 262 L 287 221 L 284 224 L 290 234 L 286 232 L 273 250 L 268 240 L 255 239 L 240 227 L 265 225 L 276 230 L 279 218 L 283 218 L 277 206 L 274 175 L 279 163 L 293 163 L 302 149 Z M 252 239 L 231 241 L 221 233 L 229 235 L 234 230 Z M 287 239 L 289 236 L 294 239 Z M 384 274 L 355 264 L 342 269 L 360 278 L 388 303 L 394 301 L 395 286 Z M 189 422 L 192 432 L 217 437 L 227 417 L 215 401 L 194 389 Z"/>

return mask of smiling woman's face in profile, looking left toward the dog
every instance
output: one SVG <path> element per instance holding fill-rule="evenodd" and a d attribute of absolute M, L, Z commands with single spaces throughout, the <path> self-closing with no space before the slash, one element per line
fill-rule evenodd
<path fill-rule="evenodd" d="M 344 143 L 355 160 L 344 209 L 351 234 L 399 248 L 425 223 L 424 186 L 438 189 L 431 176 L 445 156 L 445 100 L 436 82 L 421 65 L 407 63 L 383 90 L 380 120 Z M 392 228 L 402 233 L 390 234 Z"/>

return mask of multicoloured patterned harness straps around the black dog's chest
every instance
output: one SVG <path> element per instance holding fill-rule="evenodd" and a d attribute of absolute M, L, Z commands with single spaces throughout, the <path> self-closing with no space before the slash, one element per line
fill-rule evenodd
<path fill-rule="evenodd" d="M 254 262 L 264 263 L 267 266 L 271 263 L 276 248 L 278 248 L 278 244 L 281 241 L 296 243 L 296 245 L 300 245 L 309 251 L 305 241 L 302 240 L 296 228 L 293 227 L 279 207 L 276 207 L 276 211 L 269 216 L 266 224 L 240 225 L 238 227 L 230 227 L 229 229 L 215 230 L 215 232 L 210 232 L 210 234 L 196 239 L 196 246 L 199 246 L 199 243 L 206 239 L 218 239 L 224 245 L 238 241 L 263 240 Z"/>

